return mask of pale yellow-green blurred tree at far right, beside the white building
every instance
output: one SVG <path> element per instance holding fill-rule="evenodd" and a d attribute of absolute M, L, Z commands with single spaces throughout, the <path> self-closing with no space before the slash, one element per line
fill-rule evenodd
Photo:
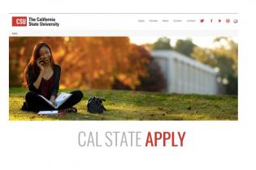
<path fill-rule="evenodd" d="M 195 47 L 191 56 L 199 62 L 219 70 L 219 83 L 225 88 L 225 92 L 237 95 L 237 49 L 236 42 L 228 37 L 218 37 L 214 40 L 215 48 Z"/>

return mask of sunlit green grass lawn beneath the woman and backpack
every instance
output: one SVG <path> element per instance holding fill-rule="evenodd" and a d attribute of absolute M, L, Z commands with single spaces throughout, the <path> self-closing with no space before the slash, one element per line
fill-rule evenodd
<path fill-rule="evenodd" d="M 72 91 L 72 89 L 60 90 Z M 142 91 L 83 91 L 84 98 L 76 105 L 78 113 L 67 113 L 63 117 L 39 116 L 37 113 L 20 110 L 26 89 L 10 87 L 9 119 L 11 121 L 33 120 L 237 120 L 237 96 L 202 96 L 163 94 Z M 85 104 L 89 96 L 106 99 L 106 113 L 88 113 Z"/>

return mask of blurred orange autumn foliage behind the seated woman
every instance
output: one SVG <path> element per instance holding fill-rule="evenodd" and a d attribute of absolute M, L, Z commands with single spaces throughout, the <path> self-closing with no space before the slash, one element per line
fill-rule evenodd
<path fill-rule="evenodd" d="M 23 71 L 40 41 L 50 45 L 62 67 L 61 87 L 110 89 L 115 80 L 135 89 L 148 75 L 150 58 L 124 37 L 10 37 L 10 86 L 21 86 Z"/>

